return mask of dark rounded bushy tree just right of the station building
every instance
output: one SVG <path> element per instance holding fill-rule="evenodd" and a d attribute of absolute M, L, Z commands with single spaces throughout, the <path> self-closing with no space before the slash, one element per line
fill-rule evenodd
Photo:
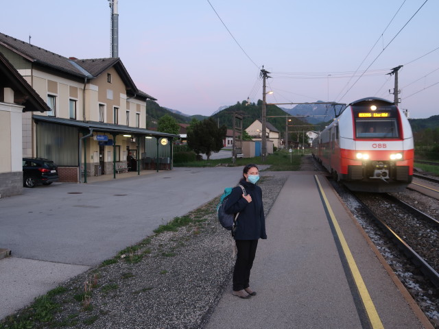
<path fill-rule="evenodd" d="M 217 127 L 213 118 L 191 121 L 187 130 L 187 145 L 196 154 L 206 154 L 209 160 L 212 152 L 219 152 L 222 149 L 226 133 L 227 127 L 225 125 Z"/>

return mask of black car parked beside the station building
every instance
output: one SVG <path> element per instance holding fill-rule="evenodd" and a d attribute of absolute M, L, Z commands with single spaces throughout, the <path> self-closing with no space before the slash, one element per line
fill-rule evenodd
<path fill-rule="evenodd" d="M 52 160 L 23 158 L 23 186 L 50 185 L 58 180 L 58 167 Z"/>

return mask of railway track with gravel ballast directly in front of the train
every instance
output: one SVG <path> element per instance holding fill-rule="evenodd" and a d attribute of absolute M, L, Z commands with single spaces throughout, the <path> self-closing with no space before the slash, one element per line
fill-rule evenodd
<path fill-rule="evenodd" d="M 355 198 L 407 258 L 439 288 L 439 221 L 389 194 L 357 193 Z M 381 199 L 381 206 L 377 206 L 377 198 Z M 401 215 L 401 210 L 407 215 Z M 407 217 L 410 221 L 406 220 Z"/>

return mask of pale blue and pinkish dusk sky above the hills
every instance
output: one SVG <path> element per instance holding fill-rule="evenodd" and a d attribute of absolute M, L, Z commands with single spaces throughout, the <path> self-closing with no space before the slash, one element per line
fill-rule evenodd
<path fill-rule="evenodd" d="M 209 116 L 257 102 L 263 65 L 271 103 L 393 100 L 387 73 L 403 65 L 400 108 L 439 114 L 437 0 L 209 1 L 119 0 L 119 57 L 161 106 Z M 110 57 L 107 0 L 0 4 L 3 34 L 65 57 Z"/>

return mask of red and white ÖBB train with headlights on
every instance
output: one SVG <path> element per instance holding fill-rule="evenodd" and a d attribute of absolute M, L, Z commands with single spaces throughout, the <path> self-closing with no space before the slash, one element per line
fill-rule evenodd
<path fill-rule="evenodd" d="M 352 191 L 403 191 L 413 176 L 412 128 L 394 103 L 359 99 L 314 139 L 313 156 Z"/>

